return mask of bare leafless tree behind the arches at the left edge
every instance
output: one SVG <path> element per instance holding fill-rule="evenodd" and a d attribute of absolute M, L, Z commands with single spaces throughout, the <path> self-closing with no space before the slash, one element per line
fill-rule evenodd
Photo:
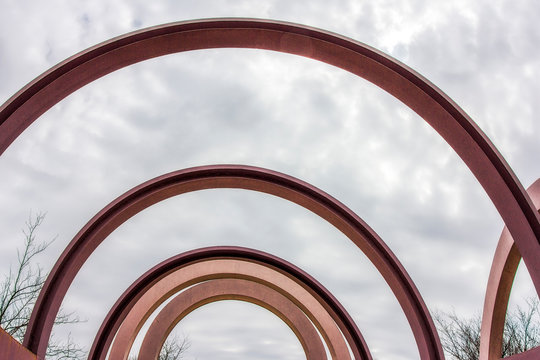
<path fill-rule="evenodd" d="M 36 257 L 54 241 L 36 240 L 36 230 L 44 219 L 43 213 L 29 216 L 25 229 L 22 230 L 24 245 L 22 250 L 17 250 L 17 263 L 10 266 L 8 274 L 0 282 L 0 326 L 19 341 L 23 340 L 32 308 L 46 279 Z M 60 311 L 55 325 L 80 321 L 75 314 Z M 85 352 L 72 341 L 71 336 L 65 341 L 55 341 L 53 335 L 47 349 L 48 359 L 79 359 L 84 355 Z"/>

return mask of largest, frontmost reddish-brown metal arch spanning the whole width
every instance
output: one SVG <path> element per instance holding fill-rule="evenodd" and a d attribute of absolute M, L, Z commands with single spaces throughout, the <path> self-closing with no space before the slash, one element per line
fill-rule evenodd
<path fill-rule="evenodd" d="M 257 48 L 309 57 L 354 73 L 424 118 L 476 176 L 510 230 L 540 294 L 540 215 L 495 146 L 441 90 L 396 59 L 307 26 L 261 19 L 203 19 L 123 35 L 65 60 L 0 107 L 0 154 L 41 114 L 80 87 L 120 68 L 166 54 Z"/>

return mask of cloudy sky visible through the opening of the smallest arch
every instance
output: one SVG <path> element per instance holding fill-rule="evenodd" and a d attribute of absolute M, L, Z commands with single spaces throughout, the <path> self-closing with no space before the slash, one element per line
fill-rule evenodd
<path fill-rule="evenodd" d="M 270 311 L 245 301 L 222 300 L 187 315 L 169 339 L 187 339 L 184 359 L 305 360 L 293 331 Z"/>

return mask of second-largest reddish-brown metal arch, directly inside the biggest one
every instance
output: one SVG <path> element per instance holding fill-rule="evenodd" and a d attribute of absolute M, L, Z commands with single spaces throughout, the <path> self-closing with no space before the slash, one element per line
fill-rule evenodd
<path fill-rule="evenodd" d="M 34 306 L 24 345 L 45 353 L 54 318 L 75 275 L 96 247 L 141 210 L 167 198 L 210 188 L 242 188 L 292 201 L 325 219 L 370 259 L 400 303 L 422 359 L 444 359 L 437 330 L 413 281 L 382 239 L 345 205 L 316 187 L 267 169 L 213 165 L 179 170 L 141 184 L 102 209 L 66 247 Z"/>

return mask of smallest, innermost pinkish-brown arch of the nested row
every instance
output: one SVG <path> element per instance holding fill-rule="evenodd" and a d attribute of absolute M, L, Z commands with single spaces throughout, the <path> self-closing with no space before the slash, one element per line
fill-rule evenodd
<path fill-rule="evenodd" d="M 152 321 L 144 336 L 138 358 L 157 360 L 163 343 L 178 322 L 193 310 L 220 300 L 247 301 L 271 311 L 294 332 L 302 344 L 307 360 L 327 359 L 317 330 L 292 301 L 272 288 L 244 279 L 209 280 L 175 296 Z"/>

